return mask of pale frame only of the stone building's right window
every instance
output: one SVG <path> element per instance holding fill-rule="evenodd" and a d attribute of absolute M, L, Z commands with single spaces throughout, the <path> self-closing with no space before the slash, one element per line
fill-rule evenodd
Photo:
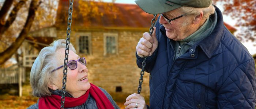
<path fill-rule="evenodd" d="M 104 42 L 104 54 L 103 56 L 107 55 L 107 47 L 106 47 L 106 38 L 107 36 L 109 37 L 115 37 L 115 41 L 116 41 L 116 53 L 112 54 L 112 55 L 118 55 L 118 33 L 103 33 L 103 42 Z"/>

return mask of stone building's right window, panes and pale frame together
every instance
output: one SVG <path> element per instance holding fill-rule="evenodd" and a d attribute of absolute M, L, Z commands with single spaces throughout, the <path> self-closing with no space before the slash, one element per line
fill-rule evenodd
<path fill-rule="evenodd" d="M 117 33 L 104 33 L 104 55 L 117 54 Z"/>

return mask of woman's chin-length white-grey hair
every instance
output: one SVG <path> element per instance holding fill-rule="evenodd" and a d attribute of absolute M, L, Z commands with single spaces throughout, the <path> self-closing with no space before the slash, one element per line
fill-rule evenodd
<path fill-rule="evenodd" d="M 30 71 L 30 85 L 33 89 L 34 96 L 50 96 L 51 92 L 49 91 L 48 84 L 51 84 L 53 79 L 52 70 L 58 67 L 54 56 L 56 51 L 60 48 L 66 48 L 66 40 L 59 39 L 53 41 L 49 47 L 43 48 L 35 59 Z M 69 44 L 69 50 L 76 53 L 71 43 Z"/>

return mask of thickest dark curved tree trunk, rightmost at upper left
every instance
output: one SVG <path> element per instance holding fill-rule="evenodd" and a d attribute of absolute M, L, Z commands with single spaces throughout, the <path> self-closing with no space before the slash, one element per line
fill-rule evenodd
<path fill-rule="evenodd" d="M 30 27 L 33 24 L 34 17 L 35 17 L 35 11 L 37 10 L 39 4 L 39 0 L 32 0 L 29 7 L 29 14 L 27 16 L 26 23 L 24 25 L 24 28 L 20 32 L 19 36 L 16 38 L 15 42 L 12 43 L 10 47 L 5 49 L 4 52 L 0 53 L 0 65 L 3 64 L 5 61 L 7 61 L 11 56 L 19 49 L 20 45 L 25 40 L 27 34 L 29 33 Z"/>

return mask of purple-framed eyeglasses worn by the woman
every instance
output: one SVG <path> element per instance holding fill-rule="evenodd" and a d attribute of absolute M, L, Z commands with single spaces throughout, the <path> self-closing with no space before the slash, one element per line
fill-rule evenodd
<path fill-rule="evenodd" d="M 79 58 L 78 60 L 71 60 L 71 61 L 69 61 L 68 62 L 69 69 L 71 69 L 71 70 L 76 69 L 77 68 L 77 63 L 76 63 L 77 61 L 80 62 L 82 65 L 86 65 L 86 60 L 85 60 L 84 57 L 82 57 L 82 58 Z M 58 68 L 52 70 L 52 72 L 54 72 L 54 71 L 56 71 L 56 70 L 58 70 L 58 69 L 60 69 L 62 67 L 64 67 L 64 65 L 61 65 Z"/>

